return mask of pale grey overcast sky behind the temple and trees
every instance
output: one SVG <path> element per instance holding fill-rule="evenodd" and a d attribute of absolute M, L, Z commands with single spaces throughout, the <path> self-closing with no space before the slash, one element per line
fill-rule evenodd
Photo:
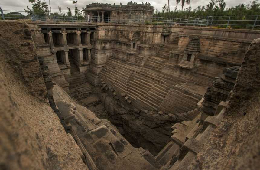
<path fill-rule="evenodd" d="M 46 1 L 49 5 L 49 0 L 41 0 Z M 122 2 L 123 5 L 127 4 L 131 0 L 120 0 L 120 1 L 112 1 L 112 0 L 101 0 L 101 1 L 95 1 L 95 0 L 78 0 L 76 3 L 76 6 L 81 9 L 81 7 L 86 7 L 86 5 L 89 5 L 92 2 L 99 2 L 99 3 L 109 3 L 119 5 L 120 2 Z M 210 0 L 191 0 L 191 8 L 194 9 L 197 6 L 206 6 Z M 236 6 L 240 3 L 248 4 L 250 0 L 226 0 L 226 8 L 230 8 L 232 6 Z M 251 0 L 252 1 L 252 0 Z M 51 12 L 58 12 L 58 6 L 61 7 L 63 12 L 67 12 L 67 8 L 69 7 L 71 11 L 74 11 L 74 4 L 72 4 L 73 0 L 50 0 L 50 6 L 51 6 Z M 134 2 L 134 1 L 132 1 Z M 142 3 L 146 1 L 135 1 L 137 3 Z M 147 1 L 150 2 L 150 4 L 154 7 L 154 11 L 158 9 L 161 11 L 164 4 L 168 4 L 167 0 L 153 0 L 153 1 Z M 0 7 L 2 10 L 13 10 L 13 11 L 24 11 L 24 8 L 26 6 L 29 6 L 31 8 L 31 3 L 28 0 L 0 0 Z M 170 0 L 170 10 L 173 10 L 176 6 L 176 0 Z M 178 9 L 181 9 L 180 5 L 177 5 Z M 184 8 L 187 8 L 188 5 L 184 5 Z M 7 12 L 4 12 L 7 13 Z"/>

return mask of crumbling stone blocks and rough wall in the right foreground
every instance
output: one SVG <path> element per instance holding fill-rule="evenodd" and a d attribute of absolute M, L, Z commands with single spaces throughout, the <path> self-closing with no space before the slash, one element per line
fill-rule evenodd
<path fill-rule="evenodd" d="M 259 122 L 255 117 L 259 113 L 259 43 L 256 39 L 249 46 L 240 69 L 228 68 L 220 76 L 221 80 L 216 78 L 204 96 L 200 117 L 173 126 L 173 142 L 164 148 L 166 152 L 157 156 L 164 164 L 161 169 L 257 169 Z M 252 117 L 246 117 L 248 113 Z M 252 140 L 254 142 L 250 142 Z M 245 152 L 246 149 L 250 151 Z"/>

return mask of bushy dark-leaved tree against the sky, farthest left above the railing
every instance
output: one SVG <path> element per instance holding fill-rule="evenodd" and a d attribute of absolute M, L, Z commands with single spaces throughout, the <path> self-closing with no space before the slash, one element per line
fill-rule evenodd
<path fill-rule="evenodd" d="M 30 15 L 33 14 L 49 14 L 49 8 L 46 2 L 41 2 L 40 0 L 29 0 L 32 3 L 32 9 L 27 6 L 27 9 L 24 11 Z"/>

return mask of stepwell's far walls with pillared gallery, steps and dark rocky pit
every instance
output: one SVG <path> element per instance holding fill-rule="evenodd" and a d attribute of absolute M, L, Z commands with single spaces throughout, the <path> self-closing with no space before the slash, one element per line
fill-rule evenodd
<path fill-rule="evenodd" d="M 229 30 L 177 25 L 30 25 L 54 81 L 153 155 L 171 141 L 174 123 L 198 115 L 207 87 L 224 68 L 239 66 L 252 35 L 259 36 L 258 31 L 233 30 L 247 36 L 240 39 Z M 219 88 L 226 88 L 221 81 Z M 209 99 L 209 110 L 216 109 L 214 100 Z"/>

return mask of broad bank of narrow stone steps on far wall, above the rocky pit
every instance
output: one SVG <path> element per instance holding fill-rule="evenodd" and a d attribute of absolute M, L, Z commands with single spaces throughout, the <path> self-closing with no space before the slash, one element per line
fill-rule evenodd
<path fill-rule="evenodd" d="M 201 99 L 200 95 L 193 94 L 183 87 L 177 87 L 178 84 L 187 82 L 183 77 L 129 65 L 115 57 L 109 58 L 99 75 L 118 94 L 125 93 L 133 106 L 176 113 L 182 120 L 189 120 L 193 116 L 193 112 L 189 111 L 195 109 Z"/>

